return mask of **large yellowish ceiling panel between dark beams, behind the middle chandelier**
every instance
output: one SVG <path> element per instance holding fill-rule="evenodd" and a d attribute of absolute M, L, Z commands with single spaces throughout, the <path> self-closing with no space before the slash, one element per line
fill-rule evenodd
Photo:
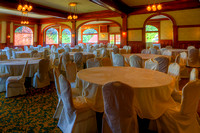
<path fill-rule="evenodd" d="M 31 2 L 67 12 L 70 11 L 68 6 L 70 2 L 77 3 L 77 13 L 107 10 L 106 8 L 101 7 L 89 0 L 31 0 Z"/>

